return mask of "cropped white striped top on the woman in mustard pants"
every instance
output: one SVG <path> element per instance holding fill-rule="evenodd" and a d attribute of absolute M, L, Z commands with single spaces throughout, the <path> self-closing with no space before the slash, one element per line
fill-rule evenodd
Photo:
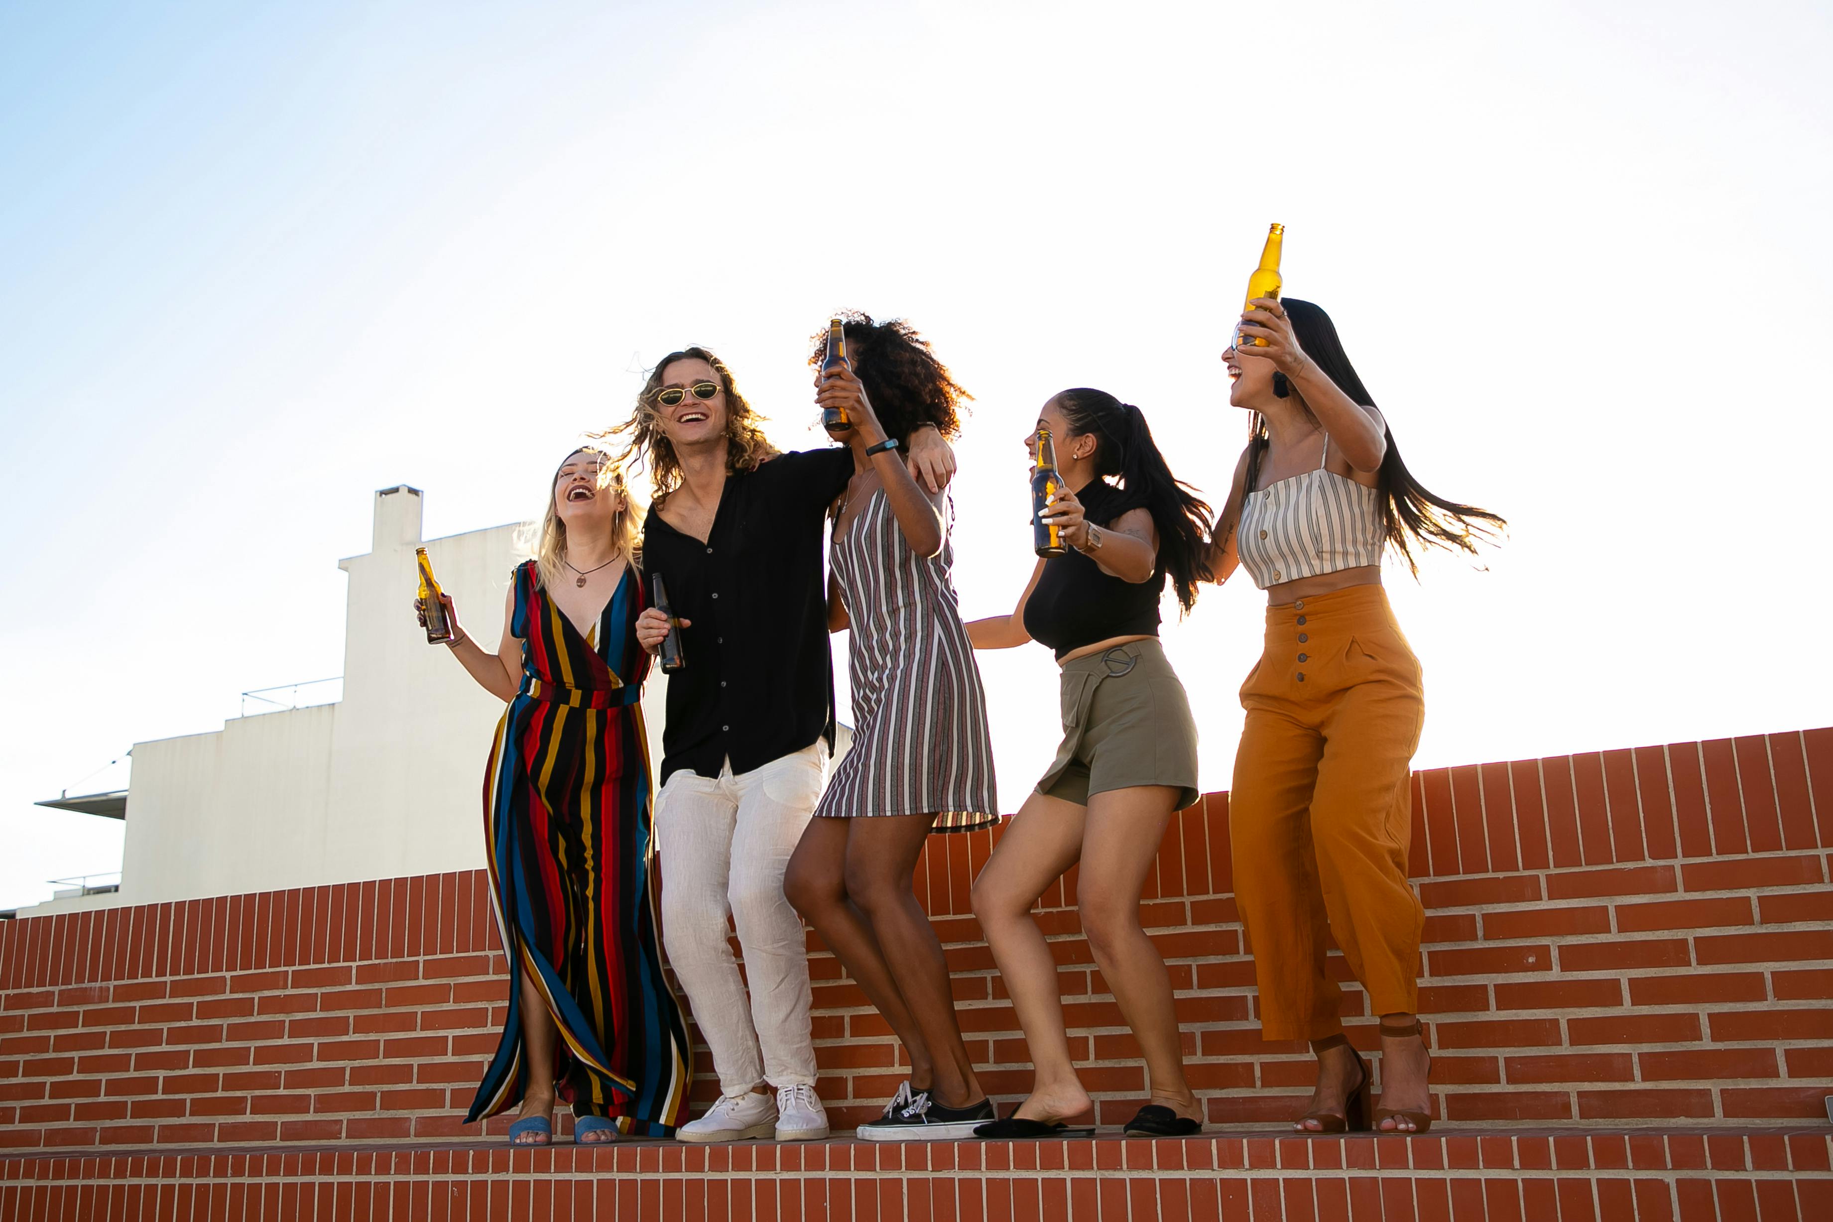
<path fill-rule="evenodd" d="M 1325 471 L 1331 436 L 1316 471 L 1250 491 L 1241 502 L 1235 553 L 1254 584 L 1265 590 L 1300 577 L 1380 564 L 1388 533 L 1380 493 Z"/>

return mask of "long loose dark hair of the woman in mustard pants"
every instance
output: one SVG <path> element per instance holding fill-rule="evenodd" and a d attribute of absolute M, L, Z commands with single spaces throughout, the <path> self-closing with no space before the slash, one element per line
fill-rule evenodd
<path fill-rule="evenodd" d="M 1285 306 L 1285 317 L 1292 321 L 1292 333 L 1298 337 L 1300 348 L 1323 370 L 1325 377 L 1334 381 L 1336 388 L 1353 401 L 1375 407 L 1375 398 L 1356 376 L 1349 354 L 1344 352 L 1344 341 L 1336 337 L 1331 315 L 1323 313 L 1322 306 L 1296 297 L 1287 297 L 1279 304 Z M 1285 374 L 1272 376 L 1272 392 L 1281 399 L 1292 392 Z M 1311 414 L 1309 407 L 1305 414 Z M 1267 418 L 1254 412 L 1254 421 L 1248 427 L 1248 475 L 1243 486 L 1246 491 L 1254 491 L 1267 445 Z M 1509 526 L 1507 518 L 1488 509 L 1446 500 L 1415 480 L 1413 473 L 1400 462 L 1400 447 L 1393 443 L 1391 427 L 1388 429 L 1388 454 L 1380 460 L 1375 489 L 1380 493 L 1380 522 L 1388 542 L 1400 551 L 1415 577 L 1419 577 L 1419 562 L 1413 557 L 1411 540 L 1428 548 L 1476 555 L 1477 540 L 1492 540 L 1499 529 Z"/>

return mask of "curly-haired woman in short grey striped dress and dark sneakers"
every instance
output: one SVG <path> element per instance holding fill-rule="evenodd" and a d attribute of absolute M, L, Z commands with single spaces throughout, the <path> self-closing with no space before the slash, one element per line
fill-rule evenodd
<path fill-rule="evenodd" d="M 902 321 L 852 315 L 847 348 L 854 366 L 819 383 L 819 403 L 852 421 L 840 434 L 856 475 L 834 520 L 829 601 L 830 627 L 852 628 L 854 736 L 785 890 L 909 1055 L 911 1079 L 860 1136 L 964 1138 L 992 1119 L 992 1103 L 911 881 L 931 832 L 995 823 L 999 797 L 986 696 L 949 579 L 948 502 L 920 489 L 900 454 L 922 425 L 953 436 L 964 392 Z"/>

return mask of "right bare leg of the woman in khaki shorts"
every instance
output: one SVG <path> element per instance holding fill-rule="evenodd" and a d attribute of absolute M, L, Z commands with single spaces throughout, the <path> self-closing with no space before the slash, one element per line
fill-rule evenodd
<path fill-rule="evenodd" d="M 1140 892 L 1177 793 L 1171 786 L 1151 784 L 1089 797 L 1076 898 L 1094 962 L 1146 1055 L 1151 1101 L 1201 1121 L 1202 1108 L 1184 1081 L 1171 977 L 1140 927 Z"/>

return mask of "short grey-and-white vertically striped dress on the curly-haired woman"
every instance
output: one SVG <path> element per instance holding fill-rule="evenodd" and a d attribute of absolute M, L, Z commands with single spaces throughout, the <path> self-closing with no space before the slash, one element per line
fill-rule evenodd
<path fill-rule="evenodd" d="M 916 555 L 876 489 L 834 539 L 832 564 L 852 619 L 854 727 L 816 817 L 933 813 L 935 832 L 997 823 L 986 693 L 960 623 L 948 537 L 938 555 Z"/>

